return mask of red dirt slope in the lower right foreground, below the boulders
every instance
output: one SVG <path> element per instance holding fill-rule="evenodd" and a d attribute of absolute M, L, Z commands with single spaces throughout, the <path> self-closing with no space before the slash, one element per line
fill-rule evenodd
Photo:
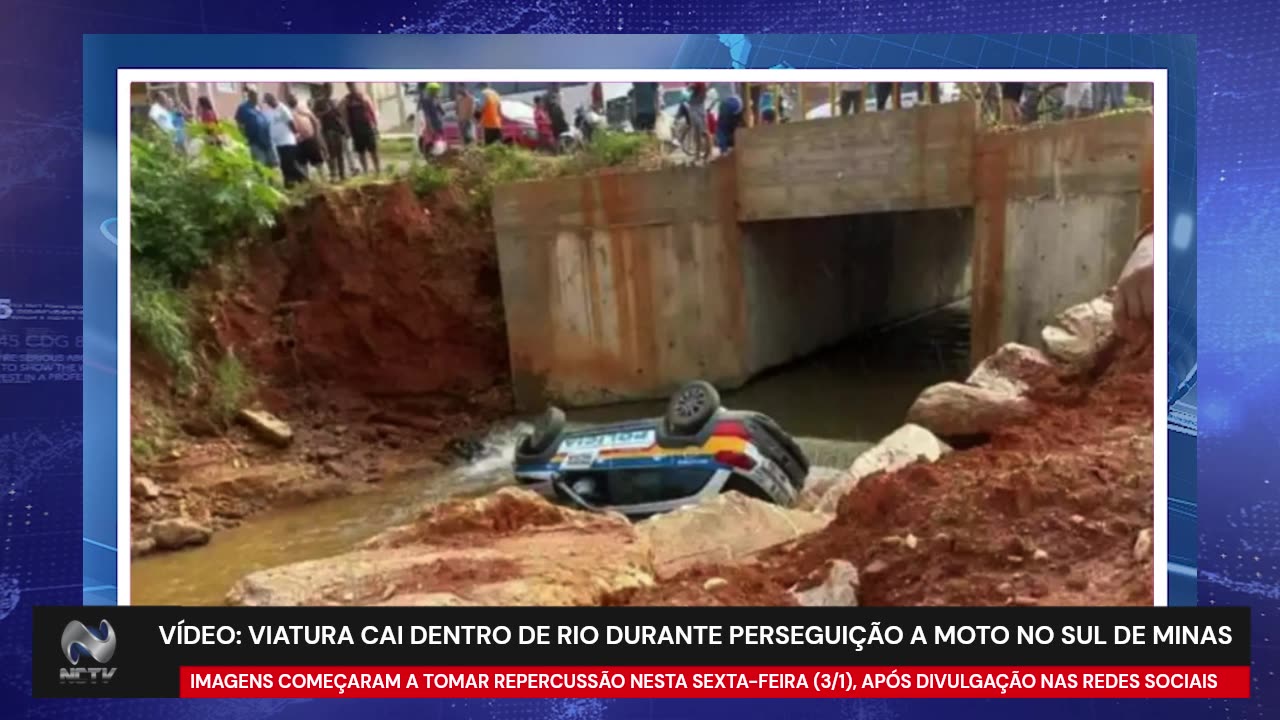
<path fill-rule="evenodd" d="M 865 478 L 814 536 L 611 601 L 791 605 L 788 588 L 844 559 L 863 605 L 1149 605 L 1151 548 L 1134 551 L 1152 523 L 1149 350 L 1030 396 L 1038 413 L 982 446 Z M 728 584 L 704 589 L 713 577 Z"/>

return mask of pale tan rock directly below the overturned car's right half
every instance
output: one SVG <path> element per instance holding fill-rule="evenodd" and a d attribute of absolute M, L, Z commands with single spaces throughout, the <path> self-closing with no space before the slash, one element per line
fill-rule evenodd
<path fill-rule="evenodd" d="M 815 533 L 828 514 L 780 507 L 737 492 L 700 505 L 655 515 L 636 524 L 653 552 L 658 578 L 695 565 L 737 562 L 785 542 Z"/>

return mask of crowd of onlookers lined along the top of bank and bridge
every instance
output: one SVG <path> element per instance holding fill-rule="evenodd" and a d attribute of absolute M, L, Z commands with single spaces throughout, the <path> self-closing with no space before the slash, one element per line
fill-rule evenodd
<path fill-rule="evenodd" d="M 705 82 L 687 83 L 676 113 L 684 120 L 682 132 L 691 136 L 692 155 L 707 160 L 713 151 L 726 155 L 733 150 L 736 131 L 746 124 L 750 111 L 753 124 L 786 122 L 792 102 L 777 87 L 751 85 L 739 94 L 737 83 L 724 83 L 718 95 Z M 901 92 L 915 90 L 919 100 L 938 102 L 940 83 L 840 83 L 838 96 L 832 99 L 832 109 L 838 101 L 838 113 L 850 115 L 863 111 L 874 94 L 874 106 L 884 110 L 901 106 Z M 992 94 L 998 92 L 1000 119 L 1006 124 L 1034 122 L 1041 97 L 1056 94 L 1057 105 L 1066 118 L 1094 111 L 1123 108 L 1126 104 L 1128 83 L 1071 82 L 1057 85 L 1005 82 L 992 83 Z M 439 155 L 449 145 L 511 143 L 518 133 L 504 127 L 503 99 L 489 83 L 470 87 L 456 83 L 452 90 L 453 122 L 445 94 L 438 82 L 419 85 L 417 111 L 421 118 L 420 150 L 424 155 Z M 631 83 L 628 108 L 631 126 L 636 132 L 655 132 L 663 113 L 663 88 L 657 82 Z M 992 95 L 995 97 L 995 95 Z M 612 102 L 611 102 L 612 106 Z M 801 109 L 803 113 L 804 109 Z M 566 111 L 559 83 L 549 83 L 532 100 L 532 124 L 536 133 L 535 147 L 550 152 L 564 150 L 563 140 L 572 136 L 575 142 L 590 142 L 593 133 L 604 124 L 605 100 L 603 83 L 590 87 L 590 100 L 573 113 Z M 188 142 L 187 124 L 201 123 L 216 128 L 220 118 L 209 97 L 200 97 L 192 113 L 164 91 L 152 95 L 148 117 L 168 133 L 179 147 Z M 339 99 L 333 83 L 324 83 L 319 92 L 302 102 L 291 92 L 282 97 L 271 92 L 261 96 L 253 87 L 244 90 L 244 100 L 237 108 L 234 122 L 239 127 L 253 159 L 269 168 L 276 168 L 285 186 L 306 182 L 312 177 L 343 181 L 348 174 L 381 173 L 379 155 L 378 106 L 358 83 L 346 83 L 346 94 Z M 526 120 L 527 122 L 527 120 Z M 456 129 L 451 137 L 449 129 Z M 214 141 L 216 135 L 211 133 Z M 526 138 L 521 138 L 524 142 Z"/>

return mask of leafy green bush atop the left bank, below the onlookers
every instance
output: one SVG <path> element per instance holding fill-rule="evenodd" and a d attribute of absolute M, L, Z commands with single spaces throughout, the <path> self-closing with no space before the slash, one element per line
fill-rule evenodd
<path fill-rule="evenodd" d="M 191 154 L 159 132 L 136 135 L 131 168 L 131 251 L 175 284 L 228 243 L 275 223 L 285 197 L 248 154 L 239 132 L 192 124 Z"/>

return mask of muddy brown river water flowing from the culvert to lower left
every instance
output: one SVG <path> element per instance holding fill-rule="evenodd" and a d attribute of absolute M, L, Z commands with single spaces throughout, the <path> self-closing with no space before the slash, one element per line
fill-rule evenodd
<path fill-rule="evenodd" d="M 963 377 L 969 354 L 966 304 L 851 338 L 724 393 L 730 407 L 772 415 L 803 438 L 815 465 L 847 466 L 892 432 L 922 388 Z M 570 410 L 572 424 L 660 415 L 662 402 Z M 250 518 L 202 547 L 133 561 L 134 605 L 214 605 L 241 577 L 285 562 L 324 557 L 417 515 L 422 505 L 481 495 L 504 484 L 520 424 L 495 428 L 486 454 L 378 491 Z"/>

